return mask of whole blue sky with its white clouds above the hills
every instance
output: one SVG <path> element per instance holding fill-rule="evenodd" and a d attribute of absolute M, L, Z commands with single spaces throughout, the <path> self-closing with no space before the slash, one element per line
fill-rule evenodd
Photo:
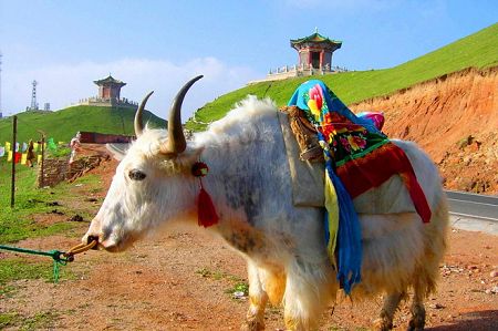
<path fill-rule="evenodd" d="M 173 95 L 205 74 L 184 118 L 270 69 L 292 65 L 290 39 L 315 28 L 343 41 L 333 64 L 391 68 L 498 21 L 495 0 L 23 1 L 0 0 L 3 115 L 38 102 L 53 110 L 96 94 L 93 80 L 127 82 L 122 95 L 165 117 Z M 333 86 L 332 86 L 333 89 Z"/>

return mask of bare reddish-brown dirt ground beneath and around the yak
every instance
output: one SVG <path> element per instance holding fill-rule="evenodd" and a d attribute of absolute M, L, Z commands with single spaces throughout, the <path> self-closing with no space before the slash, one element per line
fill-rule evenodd
<path fill-rule="evenodd" d="M 92 170 L 107 187 L 116 163 Z M 76 183 L 75 183 L 76 184 Z M 87 193 L 75 186 L 82 196 Z M 63 203 L 63 201 L 61 201 Z M 98 203 L 85 201 L 96 213 Z M 42 217 L 50 223 L 49 217 Z M 68 221 L 72 215 L 54 221 Z M 75 232 L 82 236 L 87 219 Z M 79 242 L 74 236 L 30 239 L 19 246 L 65 249 Z M 450 248 L 440 266 L 438 293 L 427 301 L 427 330 L 498 330 L 498 238 L 480 232 L 453 230 Z M 0 254 L 1 255 L 1 254 Z M 1 258 L 1 256 L 0 256 Z M 22 257 L 51 262 L 43 258 Z M 25 319 L 44 317 L 34 329 L 50 330 L 238 330 L 248 308 L 246 297 L 236 299 L 234 287 L 247 281 L 246 263 L 221 239 L 205 229 L 173 226 L 123 254 L 89 251 L 62 269 L 62 280 L 21 280 L 0 300 L 0 311 Z M 320 330 L 365 330 L 376 318 L 381 298 L 365 302 L 338 302 L 333 314 L 322 317 Z M 405 330 L 407 302 L 395 319 Z M 267 330 L 282 330 L 282 310 L 270 307 Z M 19 325 L 7 328 L 18 330 Z"/>

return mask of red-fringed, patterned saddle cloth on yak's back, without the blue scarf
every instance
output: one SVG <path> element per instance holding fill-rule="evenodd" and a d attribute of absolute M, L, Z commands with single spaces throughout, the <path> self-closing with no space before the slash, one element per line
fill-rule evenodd
<path fill-rule="evenodd" d="M 324 118 L 320 131 L 332 146 L 335 172 L 352 199 L 400 175 L 422 220 L 430 220 L 425 194 L 402 148 L 385 135 L 371 133 L 339 113 L 329 113 Z"/>

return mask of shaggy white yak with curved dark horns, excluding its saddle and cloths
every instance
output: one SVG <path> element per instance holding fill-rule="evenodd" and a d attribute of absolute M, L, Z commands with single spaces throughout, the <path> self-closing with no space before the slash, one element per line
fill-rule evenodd
<path fill-rule="evenodd" d="M 249 96 L 206 132 L 185 139 L 181 102 L 199 77 L 178 92 L 168 131 L 143 127 L 142 112 L 152 93 L 144 99 L 135 117 L 137 139 L 122 156 L 82 240 L 122 251 L 165 223 L 196 224 L 199 179 L 191 167 L 200 159 L 209 167 L 203 184 L 219 215 L 219 223 L 206 230 L 221 236 L 248 263 L 250 306 L 242 329 L 264 328 L 270 300 L 283 304 L 287 329 L 311 330 L 339 290 L 325 249 L 324 210 L 292 204 L 284 142 L 271 101 Z M 435 165 L 415 144 L 396 144 L 412 155 L 418 182 L 432 197 L 432 219 L 423 224 L 416 213 L 360 214 L 362 281 L 352 297 L 384 292 L 375 328 L 390 330 L 400 301 L 412 289 L 408 329 L 422 330 L 424 299 L 435 290 L 446 248 L 448 211 Z"/>

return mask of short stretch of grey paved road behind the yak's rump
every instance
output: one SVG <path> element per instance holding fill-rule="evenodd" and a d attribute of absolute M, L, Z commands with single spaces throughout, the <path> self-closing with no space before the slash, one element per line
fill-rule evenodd
<path fill-rule="evenodd" d="M 446 194 L 450 214 L 498 223 L 498 197 L 461 192 Z"/>

